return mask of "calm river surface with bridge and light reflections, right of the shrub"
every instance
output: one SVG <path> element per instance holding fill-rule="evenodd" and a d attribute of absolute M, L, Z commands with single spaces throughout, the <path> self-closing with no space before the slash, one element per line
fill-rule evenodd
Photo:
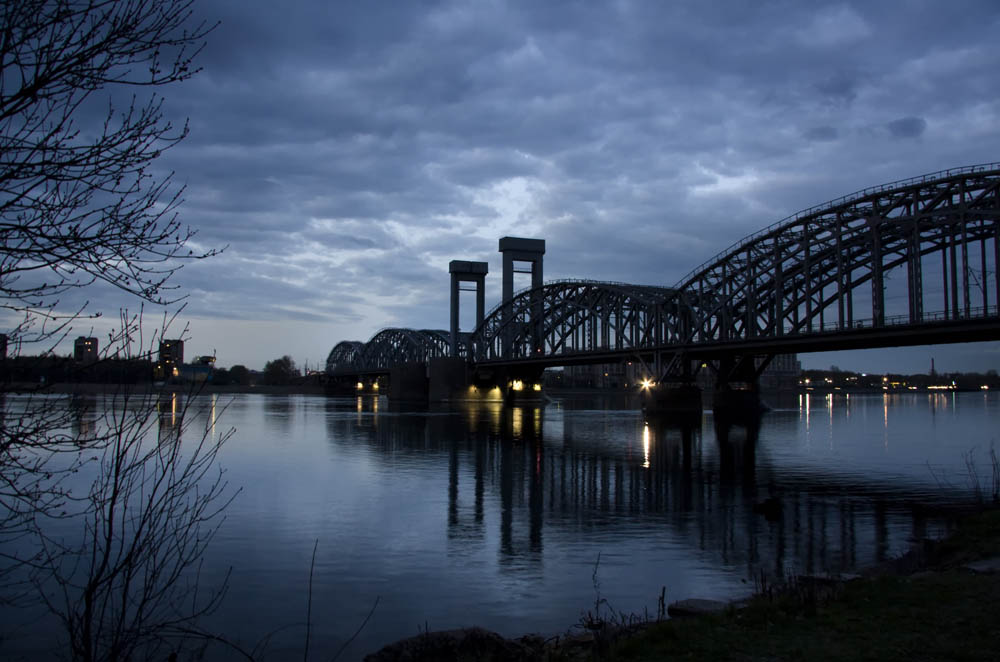
<path fill-rule="evenodd" d="M 237 428 L 221 460 L 243 489 L 203 570 L 232 567 L 210 625 L 250 645 L 292 626 L 268 659 L 301 656 L 317 540 L 313 650 L 336 650 L 379 599 L 344 659 L 425 627 L 562 632 L 593 608 L 598 556 L 600 597 L 640 614 L 662 586 L 728 598 L 761 571 L 869 565 L 943 530 L 933 507 L 969 499 L 964 454 L 978 446 L 986 475 L 1000 419 L 988 393 L 793 395 L 759 427 L 597 399 L 196 404 L 212 434 Z M 769 497 L 770 519 L 754 508 Z"/>

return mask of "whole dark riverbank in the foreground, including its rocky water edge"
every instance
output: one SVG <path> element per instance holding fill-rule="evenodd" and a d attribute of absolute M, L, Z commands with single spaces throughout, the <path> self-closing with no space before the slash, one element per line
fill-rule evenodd
<path fill-rule="evenodd" d="M 547 639 L 505 639 L 480 628 L 424 632 L 364 659 L 995 660 L 1000 509 L 967 514 L 950 536 L 914 541 L 903 556 L 858 575 L 754 583 L 749 599 L 694 617 L 588 612 L 573 630 Z"/>

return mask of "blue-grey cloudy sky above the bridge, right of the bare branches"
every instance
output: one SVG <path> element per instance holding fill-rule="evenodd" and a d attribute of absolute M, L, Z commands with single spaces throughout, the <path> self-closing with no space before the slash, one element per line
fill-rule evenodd
<path fill-rule="evenodd" d="M 1000 5 L 206 0 L 193 80 L 187 354 L 320 364 L 386 326 L 446 328 L 449 260 L 543 238 L 546 280 L 673 285 L 867 186 L 1000 161 Z M 468 302 L 468 303 L 471 303 Z M 464 317 L 468 328 L 470 310 Z M 1000 368 L 997 344 L 823 354 Z M 985 363 L 984 363 L 985 357 Z"/>

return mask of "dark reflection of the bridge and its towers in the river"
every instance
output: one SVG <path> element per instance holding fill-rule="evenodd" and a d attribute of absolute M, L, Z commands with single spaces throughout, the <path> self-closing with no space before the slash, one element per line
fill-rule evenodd
<path fill-rule="evenodd" d="M 347 407 L 358 416 L 329 416 L 331 443 L 361 429 L 388 458 L 446 461 L 449 544 L 458 554 L 498 541 L 503 571 L 541 566 L 547 538 L 627 544 L 651 527 L 745 577 L 839 571 L 884 561 L 941 526 L 918 481 L 783 472 L 759 441 L 759 419 L 646 420 L 572 403 L 431 412 L 387 411 L 370 396 L 327 404 Z M 771 412 L 768 425 L 804 415 Z M 489 524 L 497 520 L 498 535 Z"/>

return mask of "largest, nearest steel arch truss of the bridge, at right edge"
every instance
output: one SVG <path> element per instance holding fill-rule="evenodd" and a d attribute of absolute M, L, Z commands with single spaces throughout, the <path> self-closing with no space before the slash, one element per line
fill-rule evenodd
<path fill-rule="evenodd" d="M 697 344 L 996 315 L 998 191 L 1000 164 L 990 164 L 868 189 L 800 212 L 681 282 L 677 289 L 695 317 L 689 333 L 678 335 Z M 977 244 L 980 255 L 970 260 Z M 943 272 L 935 285 L 943 288 L 946 310 L 928 315 L 924 284 L 935 276 L 924 273 L 923 258 L 935 253 Z M 909 312 L 887 319 L 884 275 L 901 266 Z M 978 300 L 970 283 L 979 289 Z M 855 315 L 860 287 L 870 298 L 870 317 Z"/>

